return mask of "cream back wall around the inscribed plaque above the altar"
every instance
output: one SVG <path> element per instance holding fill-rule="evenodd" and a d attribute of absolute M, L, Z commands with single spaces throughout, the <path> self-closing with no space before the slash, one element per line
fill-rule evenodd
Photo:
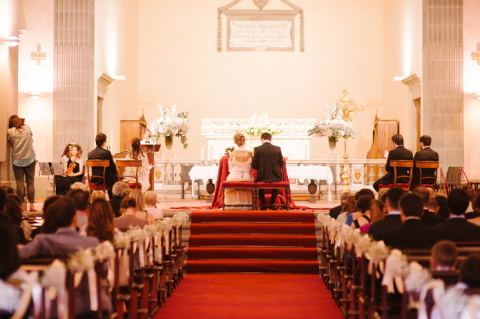
<path fill-rule="evenodd" d="M 348 88 L 350 97 L 365 107 L 353 121 L 360 134 L 349 142 L 348 154 L 365 158 L 376 109 L 387 118 L 396 115 L 382 109 L 384 1 L 294 1 L 305 12 L 303 53 L 299 52 L 299 16 L 294 52 L 226 51 L 223 16 L 223 50 L 218 53 L 217 8 L 229 2 L 140 2 L 139 104 L 131 117 L 144 108 L 146 120 L 152 121 L 158 116 L 159 103 L 190 111 L 189 147 L 181 149 L 175 139 L 173 150 L 177 158 L 200 158 L 200 147 L 207 149 L 200 135 L 201 118 L 267 113 L 270 118 L 322 119 L 324 106 Z M 242 1 L 242 8 L 247 2 L 252 3 Z M 266 9 L 280 5 L 280 0 L 272 0 Z M 310 158 L 324 159 L 327 149 L 326 138 L 312 139 Z M 336 152 L 342 154 L 343 147 Z"/>

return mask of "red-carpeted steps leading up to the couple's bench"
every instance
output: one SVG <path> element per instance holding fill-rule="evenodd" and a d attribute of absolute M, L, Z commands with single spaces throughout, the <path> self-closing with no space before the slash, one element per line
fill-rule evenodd
<path fill-rule="evenodd" d="M 191 213 L 187 273 L 318 273 L 313 212 Z"/>

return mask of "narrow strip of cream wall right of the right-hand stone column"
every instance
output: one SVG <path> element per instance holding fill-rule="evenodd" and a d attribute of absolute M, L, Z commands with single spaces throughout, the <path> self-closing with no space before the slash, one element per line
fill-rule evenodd
<path fill-rule="evenodd" d="M 472 60 L 472 53 L 480 51 L 480 6 L 475 0 L 463 1 L 463 92 L 464 92 L 464 163 L 469 179 L 480 178 L 480 149 L 476 136 L 480 135 L 480 65 Z"/>

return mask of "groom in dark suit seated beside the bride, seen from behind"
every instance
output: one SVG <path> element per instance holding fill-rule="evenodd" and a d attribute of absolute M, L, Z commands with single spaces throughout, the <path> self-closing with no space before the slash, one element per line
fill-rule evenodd
<path fill-rule="evenodd" d="M 252 160 L 252 168 L 257 170 L 255 182 L 282 182 L 283 156 L 280 147 L 272 145 L 272 135 L 263 133 L 260 137 L 261 146 L 255 147 L 254 158 Z M 272 189 L 272 197 L 270 198 L 270 210 L 275 208 L 275 200 L 277 199 L 279 189 Z M 266 210 L 265 191 L 259 189 L 259 198 L 261 202 L 261 210 Z"/>

